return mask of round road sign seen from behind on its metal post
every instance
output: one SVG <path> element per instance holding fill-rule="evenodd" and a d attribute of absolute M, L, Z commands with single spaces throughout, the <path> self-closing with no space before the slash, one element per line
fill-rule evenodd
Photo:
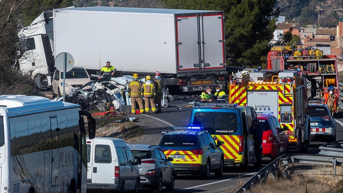
<path fill-rule="evenodd" d="M 63 71 L 63 101 L 66 99 L 66 72 L 74 67 L 74 58 L 67 52 L 62 52 L 56 56 L 55 66 L 57 70 Z"/>

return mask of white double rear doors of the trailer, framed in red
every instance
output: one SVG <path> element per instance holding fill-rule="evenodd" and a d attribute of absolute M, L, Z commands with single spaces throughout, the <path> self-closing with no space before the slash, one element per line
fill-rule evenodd
<path fill-rule="evenodd" d="M 224 15 L 176 16 L 178 71 L 225 69 Z"/>

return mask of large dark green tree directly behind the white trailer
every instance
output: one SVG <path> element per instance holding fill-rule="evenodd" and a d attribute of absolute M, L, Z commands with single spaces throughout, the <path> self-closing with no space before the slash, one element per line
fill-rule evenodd
<path fill-rule="evenodd" d="M 160 0 L 167 8 L 223 10 L 228 65 L 253 67 L 265 58 L 279 9 L 275 0 Z"/>

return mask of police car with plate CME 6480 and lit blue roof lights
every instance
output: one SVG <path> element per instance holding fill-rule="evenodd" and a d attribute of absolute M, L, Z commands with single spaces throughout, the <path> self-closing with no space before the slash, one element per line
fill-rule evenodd
<path fill-rule="evenodd" d="M 224 153 L 220 148 L 223 141 L 215 142 L 203 127 L 171 127 L 159 143 L 167 157 L 172 161 L 176 174 L 201 174 L 210 178 L 214 171 L 221 177 L 224 170 Z"/>

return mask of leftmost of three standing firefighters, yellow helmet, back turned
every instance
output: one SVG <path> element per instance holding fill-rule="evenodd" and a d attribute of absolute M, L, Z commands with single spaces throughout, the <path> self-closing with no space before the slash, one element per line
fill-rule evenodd
<path fill-rule="evenodd" d="M 144 113 L 143 99 L 141 98 L 142 83 L 138 80 L 138 74 L 133 74 L 133 80 L 129 83 L 128 95 L 131 98 L 131 112 L 136 114 L 136 103 L 141 113 Z"/>

